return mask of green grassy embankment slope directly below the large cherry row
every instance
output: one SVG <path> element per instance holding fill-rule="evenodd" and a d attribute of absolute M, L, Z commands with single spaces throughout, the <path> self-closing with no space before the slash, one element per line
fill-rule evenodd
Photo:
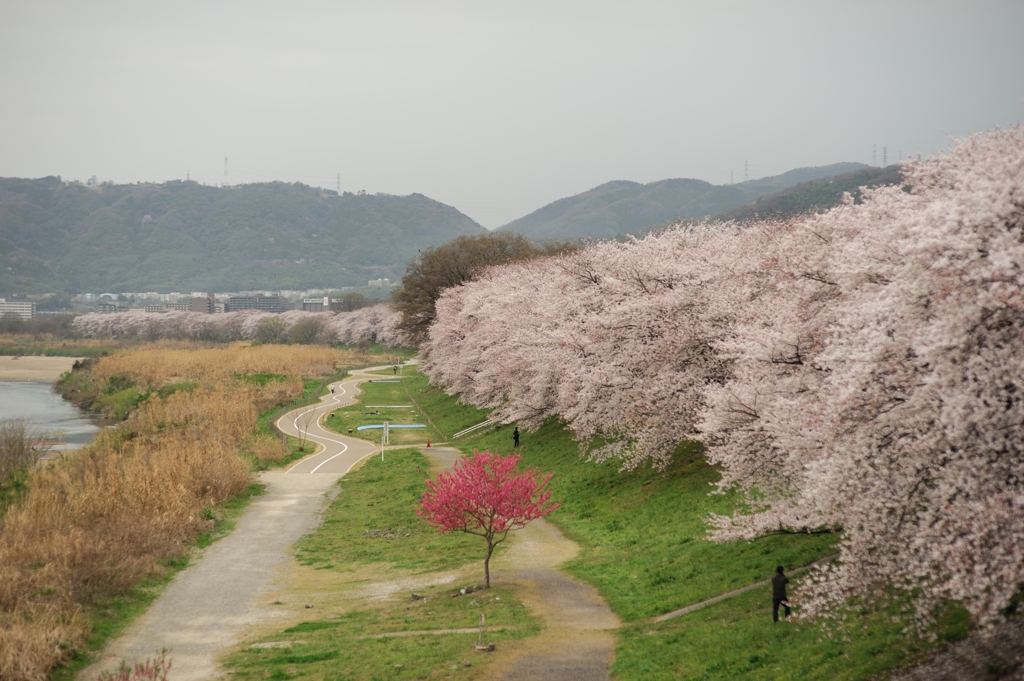
<path fill-rule="evenodd" d="M 414 396 L 442 428 L 486 416 L 437 389 Z M 827 556 L 838 537 L 706 541 L 702 518 L 731 512 L 736 499 L 709 495 L 718 473 L 694 446 L 682 446 L 667 471 L 623 472 L 615 462 L 581 460 L 555 422 L 524 432 L 522 443 L 524 465 L 555 473 L 551 488 L 562 507 L 549 520 L 582 548 L 564 569 L 596 587 L 624 622 L 616 679 L 869 679 L 937 645 L 905 634 L 888 612 L 859 612 L 831 632 L 808 623 L 773 625 L 767 586 L 654 625 L 653 616 L 768 579 L 775 565 L 792 569 Z M 485 428 L 455 444 L 508 454 L 512 426 Z M 965 611 L 950 608 L 938 639 L 962 638 L 968 627 Z"/>

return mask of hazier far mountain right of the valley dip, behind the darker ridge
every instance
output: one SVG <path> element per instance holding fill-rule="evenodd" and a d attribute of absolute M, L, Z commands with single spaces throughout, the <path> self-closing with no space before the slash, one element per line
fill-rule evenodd
<path fill-rule="evenodd" d="M 676 219 L 715 215 L 801 182 L 865 167 L 859 163 L 837 163 L 798 168 L 781 175 L 726 185 L 697 179 L 665 179 L 648 184 L 606 182 L 574 197 L 559 199 L 501 228 L 532 239 L 614 237 Z"/>

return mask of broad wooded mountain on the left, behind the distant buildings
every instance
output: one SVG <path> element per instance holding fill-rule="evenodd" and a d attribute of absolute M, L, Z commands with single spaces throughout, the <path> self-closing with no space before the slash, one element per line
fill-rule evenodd
<path fill-rule="evenodd" d="M 419 194 L 0 178 L 0 292 L 366 286 L 398 280 L 421 249 L 485 231 Z"/>

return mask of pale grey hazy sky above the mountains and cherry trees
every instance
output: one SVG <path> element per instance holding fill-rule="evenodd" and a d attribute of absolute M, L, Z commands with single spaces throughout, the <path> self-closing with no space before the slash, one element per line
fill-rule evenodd
<path fill-rule="evenodd" d="M 0 0 L 0 176 L 420 193 L 882 164 L 1024 120 L 1024 2 Z"/>

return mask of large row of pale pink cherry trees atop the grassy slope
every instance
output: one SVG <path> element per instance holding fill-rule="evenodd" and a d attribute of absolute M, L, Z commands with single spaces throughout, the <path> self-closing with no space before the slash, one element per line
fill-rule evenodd
<path fill-rule="evenodd" d="M 750 501 L 721 541 L 841 528 L 811 614 L 884 583 L 996 618 L 1024 585 L 1024 130 L 903 172 L 823 215 L 493 268 L 438 301 L 426 369 L 626 468 L 699 439 Z"/>

